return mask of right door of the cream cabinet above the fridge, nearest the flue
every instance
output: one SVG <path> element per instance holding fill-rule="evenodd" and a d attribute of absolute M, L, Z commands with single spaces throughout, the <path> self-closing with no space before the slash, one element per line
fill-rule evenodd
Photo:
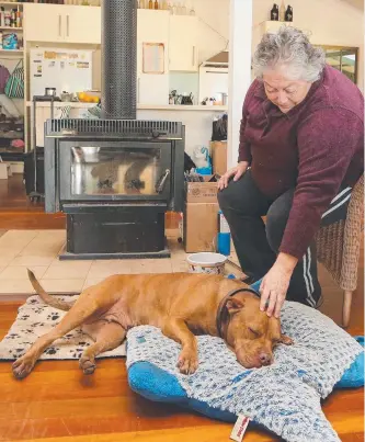
<path fill-rule="evenodd" d="M 101 8 L 62 7 L 65 42 L 101 44 Z"/>

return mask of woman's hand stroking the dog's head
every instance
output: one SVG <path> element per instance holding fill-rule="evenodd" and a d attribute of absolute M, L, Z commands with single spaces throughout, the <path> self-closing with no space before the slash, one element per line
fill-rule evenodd
<path fill-rule="evenodd" d="M 290 254 L 280 253 L 275 264 L 262 280 L 260 310 L 266 310 L 267 316 L 274 314 L 276 318 L 280 317 L 297 262 L 298 260 Z"/>

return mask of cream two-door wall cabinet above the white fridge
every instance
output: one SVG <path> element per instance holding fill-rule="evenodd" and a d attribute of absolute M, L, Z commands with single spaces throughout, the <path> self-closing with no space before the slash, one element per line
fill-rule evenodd
<path fill-rule="evenodd" d="M 24 3 L 24 39 L 101 44 L 101 9 Z"/>

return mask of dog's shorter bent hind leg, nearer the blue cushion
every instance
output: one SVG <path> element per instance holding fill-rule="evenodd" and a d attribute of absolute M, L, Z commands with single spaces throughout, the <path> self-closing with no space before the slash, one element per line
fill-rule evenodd
<path fill-rule="evenodd" d="M 84 374 L 92 374 L 95 371 L 98 354 L 116 349 L 126 337 L 126 330 L 119 324 L 102 320 L 83 326 L 82 331 L 95 340 L 95 343 L 84 350 L 79 361 Z"/>

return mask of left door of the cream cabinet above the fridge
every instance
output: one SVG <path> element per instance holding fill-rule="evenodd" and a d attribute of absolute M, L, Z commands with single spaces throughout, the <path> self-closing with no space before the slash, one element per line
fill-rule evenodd
<path fill-rule="evenodd" d="M 64 8 L 58 4 L 24 3 L 24 39 L 62 42 L 66 24 Z"/>

